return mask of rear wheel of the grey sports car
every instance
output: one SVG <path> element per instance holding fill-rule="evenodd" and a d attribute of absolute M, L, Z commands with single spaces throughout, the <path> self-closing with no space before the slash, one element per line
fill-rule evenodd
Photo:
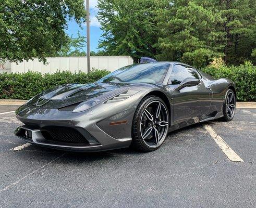
<path fill-rule="evenodd" d="M 232 99 L 230 99 L 232 96 Z M 232 107 L 231 107 L 232 106 Z M 236 96 L 232 89 L 228 89 L 225 95 L 224 103 L 223 103 L 223 120 L 231 121 L 234 118 L 236 112 Z"/>

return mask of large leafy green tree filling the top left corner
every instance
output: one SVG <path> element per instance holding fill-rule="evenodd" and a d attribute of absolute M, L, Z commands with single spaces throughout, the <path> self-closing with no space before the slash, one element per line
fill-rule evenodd
<path fill-rule="evenodd" d="M 0 0 L 0 58 L 45 60 L 68 41 L 68 19 L 85 17 L 83 0 Z"/>

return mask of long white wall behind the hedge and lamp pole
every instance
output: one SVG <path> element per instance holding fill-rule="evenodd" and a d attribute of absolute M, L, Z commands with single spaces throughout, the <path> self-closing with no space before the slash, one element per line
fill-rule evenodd
<path fill-rule="evenodd" d="M 21 63 L 11 63 L 11 72 L 38 71 L 40 73 L 54 73 L 57 70 L 87 72 L 87 57 L 52 57 L 46 58 L 47 64 L 43 64 L 38 59 L 23 61 Z M 133 64 L 130 56 L 91 56 L 91 69 L 106 69 L 115 71 L 121 67 Z"/>

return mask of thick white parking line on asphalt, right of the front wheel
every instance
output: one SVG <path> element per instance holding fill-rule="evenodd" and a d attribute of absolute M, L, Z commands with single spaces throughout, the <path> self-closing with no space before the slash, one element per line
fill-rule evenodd
<path fill-rule="evenodd" d="M 218 135 L 214 129 L 209 125 L 204 125 L 204 128 L 209 132 L 217 145 L 222 149 L 227 158 L 233 162 L 243 162 L 243 160 L 237 155 L 237 153 L 228 146 L 228 144 Z"/>

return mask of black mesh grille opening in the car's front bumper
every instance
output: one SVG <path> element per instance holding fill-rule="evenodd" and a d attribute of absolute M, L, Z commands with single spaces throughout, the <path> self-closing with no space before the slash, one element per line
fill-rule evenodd
<path fill-rule="evenodd" d="M 60 126 L 46 126 L 41 129 L 46 140 L 72 144 L 89 144 L 77 129 Z"/>

